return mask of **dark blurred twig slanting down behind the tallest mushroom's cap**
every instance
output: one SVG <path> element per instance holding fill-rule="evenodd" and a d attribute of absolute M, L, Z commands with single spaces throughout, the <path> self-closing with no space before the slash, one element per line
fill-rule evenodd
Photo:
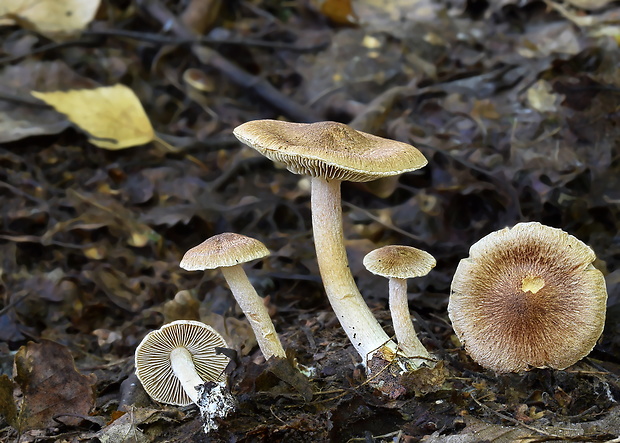
<path fill-rule="evenodd" d="M 162 25 L 169 27 L 177 36 L 186 39 L 194 38 L 191 31 L 187 29 L 187 27 L 185 27 L 160 0 L 144 0 L 139 3 L 152 17 L 158 20 Z M 314 122 L 321 120 L 320 116 L 313 110 L 292 101 L 265 79 L 247 73 L 224 58 L 217 51 L 195 44 L 192 45 L 192 52 L 202 63 L 217 69 L 232 82 L 254 92 L 288 118 L 298 122 Z"/>

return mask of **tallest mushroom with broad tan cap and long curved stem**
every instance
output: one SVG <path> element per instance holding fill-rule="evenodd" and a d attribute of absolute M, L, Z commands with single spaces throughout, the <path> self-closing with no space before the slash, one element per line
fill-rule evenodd
<path fill-rule="evenodd" d="M 367 182 L 426 165 L 411 145 L 356 131 L 336 122 L 311 124 L 255 120 L 238 126 L 235 136 L 289 171 L 311 176 L 312 227 L 325 292 L 349 340 L 364 360 L 396 344 L 364 302 L 344 246 L 340 183 Z"/>

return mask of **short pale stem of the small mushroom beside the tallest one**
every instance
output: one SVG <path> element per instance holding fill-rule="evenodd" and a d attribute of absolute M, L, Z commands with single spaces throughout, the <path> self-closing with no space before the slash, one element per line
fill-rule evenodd
<path fill-rule="evenodd" d="M 398 347 L 407 357 L 423 357 L 424 361 L 428 361 L 426 359 L 430 359 L 431 356 L 420 342 L 411 322 L 407 300 L 407 279 L 390 278 L 389 293 L 390 313 Z"/>

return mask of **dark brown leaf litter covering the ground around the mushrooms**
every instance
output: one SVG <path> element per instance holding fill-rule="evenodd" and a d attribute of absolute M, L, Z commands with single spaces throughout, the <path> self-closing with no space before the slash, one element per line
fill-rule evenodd
<path fill-rule="evenodd" d="M 111 1 L 79 25 L 50 15 L 60 32 L 1 12 L 0 439 L 618 438 L 613 2 Z M 124 99 L 77 95 L 114 85 L 139 105 L 120 118 Z M 33 91 L 78 100 L 65 117 Z M 409 297 L 445 363 L 437 392 L 393 399 L 367 383 L 318 278 L 308 182 L 231 137 L 257 118 L 342 121 L 428 158 L 398 180 L 345 184 L 343 207 L 352 271 L 389 334 L 385 282 L 361 258 L 387 244 L 436 257 Z M 97 145 L 117 148 L 127 130 L 148 136 L 123 147 L 143 146 Z M 528 220 L 595 250 L 606 328 L 565 371 L 496 375 L 460 348 L 447 295 L 472 243 Z M 222 277 L 178 267 L 226 231 L 272 251 L 246 270 L 290 357 L 313 368 L 309 402 L 269 372 Z M 141 338 L 180 318 L 211 324 L 233 350 L 240 407 L 209 437 L 195 408 L 151 402 L 132 376 Z"/>

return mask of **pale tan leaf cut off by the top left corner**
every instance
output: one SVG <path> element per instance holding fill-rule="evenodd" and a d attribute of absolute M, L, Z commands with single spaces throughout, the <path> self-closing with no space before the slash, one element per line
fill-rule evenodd
<path fill-rule="evenodd" d="M 0 19 L 63 40 L 86 28 L 98 8 L 99 0 L 11 0 L 0 2 Z"/>

